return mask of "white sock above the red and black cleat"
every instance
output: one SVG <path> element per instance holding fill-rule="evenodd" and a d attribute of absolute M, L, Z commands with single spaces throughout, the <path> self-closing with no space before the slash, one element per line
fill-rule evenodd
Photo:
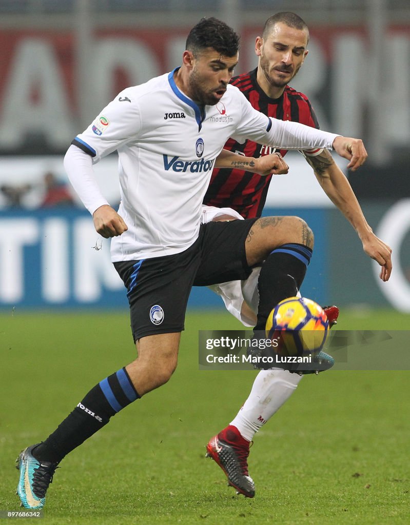
<path fill-rule="evenodd" d="M 248 399 L 230 424 L 238 428 L 242 437 L 252 441 L 255 433 L 289 399 L 301 379 L 301 375 L 288 370 L 261 370 Z"/>

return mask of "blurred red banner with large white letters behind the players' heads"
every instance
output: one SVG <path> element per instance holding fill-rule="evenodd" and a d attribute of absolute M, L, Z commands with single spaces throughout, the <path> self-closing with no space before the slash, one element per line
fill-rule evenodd
<path fill-rule="evenodd" d="M 235 74 L 257 65 L 254 42 L 263 23 L 253 20 L 241 28 Z M 121 89 L 179 66 L 189 29 L 96 28 L 81 48 L 67 28 L 0 30 L 0 152 L 64 151 Z M 367 137 L 373 101 L 380 97 L 372 91 L 376 62 L 388 78 L 388 99 L 377 106 L 385 145 L 407 146 L 410 70 L 402 65 L 409 54 L 409 27 L 387 28 L 383 47 L 391 58 L 378 65 L 366 27 L 312 24 L 310 34 L 306 64 L 292 86 L 310 97 L 321 127 Z"/>

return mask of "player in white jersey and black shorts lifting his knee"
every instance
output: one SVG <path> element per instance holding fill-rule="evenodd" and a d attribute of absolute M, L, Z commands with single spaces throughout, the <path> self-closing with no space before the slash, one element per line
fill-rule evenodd
<path fill-rule="evenodd" d="M 306 264 L 299 253 L 310 258 L 313 236 L 299 217 L 200 224 L 202 199 L 226 140 L 333 147 L 351 166 L 366 159 L 361 140 L 254 110 L 229 85 L 237 62 L 238 35 L 215 18 L 202 19 L 190 31 L 181 67 L 119 93 L 66 153 L 67 174 L 97 232 L 112 237 L 111 259 L 127 288 L 138 357 L 91 388 L 42 443 L 20 453 L 17 492 L 26 508 L 44 506 L 54 471 L 71 450 L 170 379 L 193 285 L 244 279 L 262 264 L 257 329 L 276 303 L 293 295 L 294 282 L 301 285 Z M 93 163 L 115 150 L 118 213 L 101 195 L 93 171 Z"/>

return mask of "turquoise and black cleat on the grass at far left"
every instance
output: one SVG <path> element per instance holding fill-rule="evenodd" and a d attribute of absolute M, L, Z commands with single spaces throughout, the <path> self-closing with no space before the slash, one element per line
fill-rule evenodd
<path fill-rule="evenodd" d="M 32 445 L 22 450 L 16 459 L 16 468 L 20 470 L 17 495 L 21 506 L 26 509 L 42 509 L 46 502 L 48 486 L 53 481 L 57 463 L 38 461 L 32 454 L 37 446 Z"/>

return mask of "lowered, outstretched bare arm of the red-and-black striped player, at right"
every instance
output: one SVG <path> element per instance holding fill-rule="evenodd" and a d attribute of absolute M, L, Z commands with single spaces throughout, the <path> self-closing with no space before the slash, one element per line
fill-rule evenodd
<path fill-rule="evenodd" d="M 323 191 L 356 230 L 365 253 L 382 267 L 380 278 L 387 281 L 392 272 L 392 250 L 373 233 L 349 181 L 335 164 L 332 155 L 328 150 L 323 150 L 319 155 L 305 155 L 305 158 L 312 166 Z"/>

